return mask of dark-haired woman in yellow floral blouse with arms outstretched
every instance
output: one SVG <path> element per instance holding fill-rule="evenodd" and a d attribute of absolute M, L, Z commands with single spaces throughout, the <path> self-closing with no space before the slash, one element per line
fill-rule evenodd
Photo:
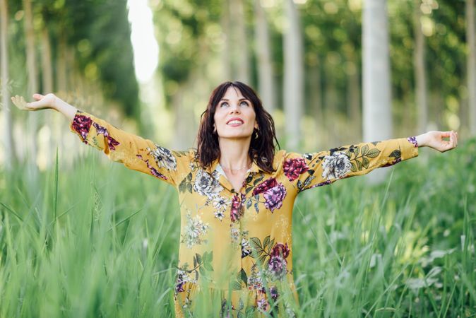
<path fill-rule="evenodd" d="M 199 307 L 213 316 L 292 316 L 297 293 L 291 220 L 297 194 L 416 157 L 418 147 L 444 152 L 458 144 L 453 131 L 429 131 L 304 155 L 275 152 L 273 118 L 254 90 L 240 82 L 213 90 L 198 147 L 189 151 L 169 151 L 128 134 L 53 94 L 33 98 L 37 101 L 26 103 L 16 96 L 13 102 L 23 110 L 63 113 L 81 141 L 178 190 L 181 240 L 174 300 L 179 317 Z"/>

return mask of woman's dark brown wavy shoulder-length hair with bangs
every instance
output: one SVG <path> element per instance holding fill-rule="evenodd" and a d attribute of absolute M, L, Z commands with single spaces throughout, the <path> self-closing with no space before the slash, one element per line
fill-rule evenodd
<path fill-rule="evenodd" d="M 261 170 L 266 172 L 275 171 L 273 168 L 275 143 L 278 148 L 280 145 L 278 139 L 276 139 L 273 117 L 266 112 L 253 88 L 239 81 L 221 83 L 210 95 L 207 109 L 201 114 L 200 129 L 198 129 L 198 163 L 203 168 L 206 168 L 209 167 L 213 161 L 220 158 L 218 134 L 213 131 L 213 124 L 215 124 L 213 117 L 215 117 L 215 110 L 218 103 L 230 87 L 238 89 L 244 98 L 251 102 L 254 112 L 256 113 L 258 131 L 254 129 L 253 136 L 251 136 L 251 144 L 248 152 L 249 158 L 254 160 Z M 258 138 L 255 138 L 256 132 L 258 133 Z"/>

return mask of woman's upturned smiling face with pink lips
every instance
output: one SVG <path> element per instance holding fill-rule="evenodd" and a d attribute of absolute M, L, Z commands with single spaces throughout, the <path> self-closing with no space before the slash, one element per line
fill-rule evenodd
<path fill-rule="evenodd" d="M 230 87 L 215 109 L 215 128 L 220 138 L 246 139 L 258 128 L 251 101 L 238 88 Z"/>

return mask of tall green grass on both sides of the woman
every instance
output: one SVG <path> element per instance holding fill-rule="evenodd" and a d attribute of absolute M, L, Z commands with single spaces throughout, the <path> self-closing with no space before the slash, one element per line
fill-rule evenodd
<path fill-rule="evenodd" d="M 476 141 L 420 153 L 299 195 L 299 316 L 475 317 Z M 177 194 L 100 155 L 1 171 L 0 317 L 173 315 Z"/>

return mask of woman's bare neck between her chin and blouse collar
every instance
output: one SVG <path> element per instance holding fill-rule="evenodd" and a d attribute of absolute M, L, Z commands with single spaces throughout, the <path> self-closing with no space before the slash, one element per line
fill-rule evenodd
<path fill-rule="evenodd" d="M 247 139 L 219 139 L 220 165 L 227 169 L 249 167 L 251 163 L 248 155 L 250 142 L 251 137 Z"/>

